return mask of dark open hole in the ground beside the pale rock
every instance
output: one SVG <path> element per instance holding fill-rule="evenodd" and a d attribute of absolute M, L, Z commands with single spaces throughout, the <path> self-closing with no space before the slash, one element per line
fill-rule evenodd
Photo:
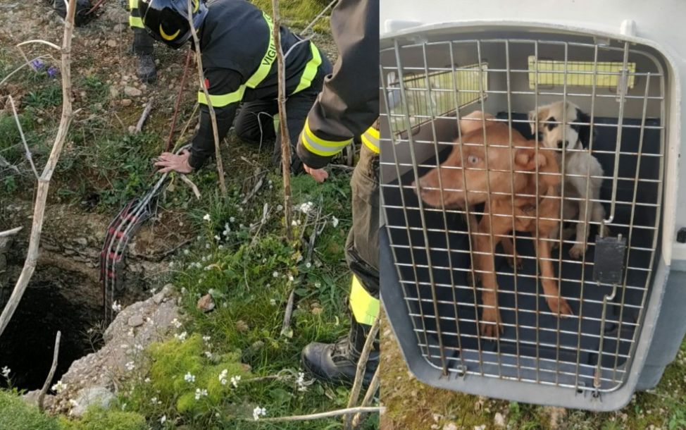
<path fill-rule="evenodd" d="M 94 336 L 88 333 L 97 324 L 99 309 L 67 300 L 60 287 L 60 281 L 32 282 L 0 338 L 0 367 L 11 369 L 12 386 L 16 388 L 31 391 L 43 386 L 58 330 L 62 338 L 51 383 L 58 381 L 74 360 L 99 348 L 98 340 L 91 340 Z M 2 386 L 7 382 L 0 377 Z"/>

